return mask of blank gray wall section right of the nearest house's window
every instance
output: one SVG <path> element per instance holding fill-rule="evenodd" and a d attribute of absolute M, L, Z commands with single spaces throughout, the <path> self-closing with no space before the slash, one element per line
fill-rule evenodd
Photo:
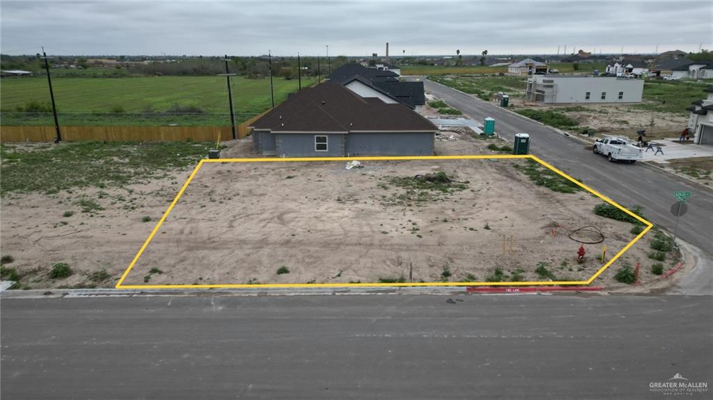
<path fill-rule="evenodd" d="M 350 133 L 344 155 L 352 156 L 431 156 L 433 133 Z"/>

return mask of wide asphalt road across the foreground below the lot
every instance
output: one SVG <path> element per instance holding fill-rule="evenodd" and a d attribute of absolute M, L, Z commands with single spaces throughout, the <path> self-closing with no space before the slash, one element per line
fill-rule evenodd
<path fill-rule="evenodd" d="M 1 397 L 657 399 L 713 384 L 712 320 L 711 296 L 4 299 Z"/>

